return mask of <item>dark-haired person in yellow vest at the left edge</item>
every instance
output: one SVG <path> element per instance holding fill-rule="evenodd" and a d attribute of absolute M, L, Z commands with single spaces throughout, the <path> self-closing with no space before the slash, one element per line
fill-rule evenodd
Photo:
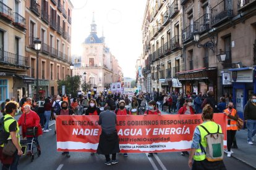
<path fill-rule="evenodd" d="M 17 102 L 8 102 L 6 104 L 6 115 L 0 119 L 0 160 L 2 169 L 18 169 L 19 159 L 23 154 L 19 142 L 19 125 L 14 119 L 18 108 L 19 104 Z M 15 148 L 17 148 L 13 156 L 6 156 L 2 153 L 7 140 L 12 140 Z"/>

